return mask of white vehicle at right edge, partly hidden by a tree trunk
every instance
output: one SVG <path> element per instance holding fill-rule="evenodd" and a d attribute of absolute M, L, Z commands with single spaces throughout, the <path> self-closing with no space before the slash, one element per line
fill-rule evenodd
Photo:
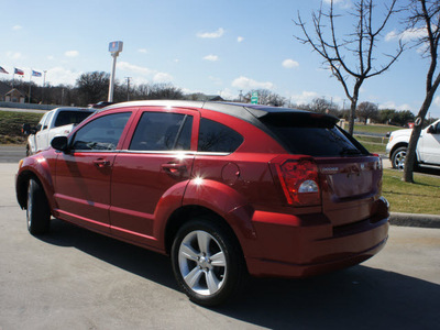
<path fill-rule="evenodd" d="M 411 133 L 411 129 L 391 133 L 386 153 L 394 168 L 404 169 Z M 440 120 L 421 131 L 416 148 L 415 165 L 440 166 Z"/>

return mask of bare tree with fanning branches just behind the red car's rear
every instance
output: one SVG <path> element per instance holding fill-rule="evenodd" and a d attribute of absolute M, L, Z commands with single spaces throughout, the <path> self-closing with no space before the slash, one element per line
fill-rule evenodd
<path fill-rule="evenodd" d="M 387 57 L 385 65 L 378 67 L 374 65 L 376 61 L 373 55 L 375 46 L 391 16 L 396 12 L 396 1 L 392 0 L 389 7 L 385 6 L 384 18 L 377 28 L 373 26 L 374 1 L 355 1 L 353 12 L 349 13 L 355 19 L 354 31 L 344 33 L 342 37 L 337 35 L 337 19 L 341 14 L 334 12 L 333 0 L 327 11 L 322 9 L 321 3 L 320 9 L 312 12 L 315 36 L 306 28 L 306 22 L 299 12 L 298 19 L 295 21 L 304 34 L 296 38 L 302 44 L 309 44 L 323 58 L 323 66 L 329 68 L 331 75 L 342 84 L 344 92 L 351 101 L 350 134 L 353 134 L 355 110 L 362 84 L 366 79 L 386 72 L 404 51 L 404 45 L 399 42 L 394 55 L 383 54 L 384 57 Z M 328 35 L 327 31 L 329 31 Z"/>

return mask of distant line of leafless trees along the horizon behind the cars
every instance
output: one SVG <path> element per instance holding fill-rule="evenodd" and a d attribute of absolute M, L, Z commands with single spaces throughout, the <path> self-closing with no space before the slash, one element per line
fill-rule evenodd
<path fill-rule="evenodd" d="M 28 91 L 31 84 L 31 102 L 59 106 L 79 106 L 97 103 L 107 100 L 110 74 L 105 72 L 85 73 L 76 80 L 75 86 L 47 84 L 45 87 L 38 86 L 33 81 L 3 80 L 6 84 L 21 91 Z M 258 103 L 274 107 L 297 108 L 318 113 L 329 113 L 340 119 L 349 120 L 351 109 L 341 108 L 326 98 L 315 98 L 307 105 L 292 103 L 287 98 L 273 92 L 268 89 L 250 90 L 240 95 L 237 99 L 229 101 L 251 102 L 252 92 L 258 94 Z M 128 100 L 206 100 L 207 96 L 198 94 L 184 94 L 178 87 L 172 84 L 141 84 L 129 87 L 129 84 L 116 81 L 113 100 L 122 102 Z M 369 101 L 361 102 L 356 107 L 356 118 L 364 122 L 374 122 L 383 124 L 394 124 L 405 127 L 408 122 L 414 122 L 415 116 L 409 110 L 397 111 L 395 109 L 378 109 L 377 105 Z M 433 120 L 427 122 L 429 124 Z"/>

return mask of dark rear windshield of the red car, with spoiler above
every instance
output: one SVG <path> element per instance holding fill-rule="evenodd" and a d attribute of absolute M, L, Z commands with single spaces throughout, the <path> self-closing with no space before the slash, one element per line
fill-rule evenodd
<path fill-rule="evenodd" d="M 286 113 L 262 118 L 262 122 L 292 154 L 317 157 L 367 155 L 369 152 L 332 118 L 310 113 Z"/>

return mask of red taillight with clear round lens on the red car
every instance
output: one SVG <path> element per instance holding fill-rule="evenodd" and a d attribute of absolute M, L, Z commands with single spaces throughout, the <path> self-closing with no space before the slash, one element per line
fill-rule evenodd
<path fill-rule="evenodd" d="M 304 207 L 321 204 L 318 165 L 312 158 L 276 161 L 272 164 L 289 205 Z"/>

